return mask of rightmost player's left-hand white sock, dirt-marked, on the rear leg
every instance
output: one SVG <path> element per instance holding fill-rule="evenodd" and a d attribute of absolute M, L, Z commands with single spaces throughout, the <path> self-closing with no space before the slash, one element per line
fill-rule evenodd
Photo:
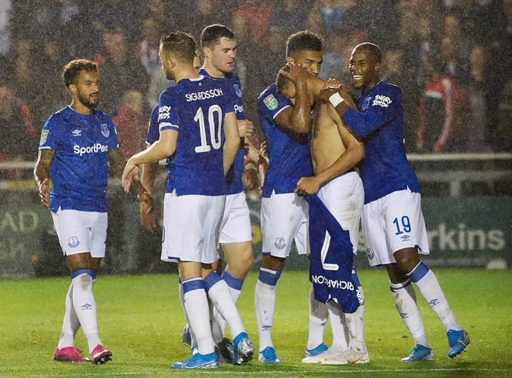
<path fill-rule="evenodd" d="M 425 328 L 423 327 L 418 305 L 416 305 L 416 294 L 414 293 L 411 281 L 407 280 L 400 284 L 391 283 L 389 289 L 391 290 L 391 295 L 393 295 L 396 309 L 414 339 L 414 344 L 428 347 Z"/>

